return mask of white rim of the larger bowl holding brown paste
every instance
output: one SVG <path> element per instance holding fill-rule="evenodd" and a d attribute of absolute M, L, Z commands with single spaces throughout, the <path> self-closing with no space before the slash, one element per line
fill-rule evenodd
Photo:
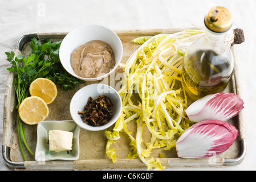
<path fill-rule="evenodd" d="M 68 32 L 68 34 L 64 37 L 64 39 L 62 40 L 62 43 L 65 42 L 65 38 L 70 36 L 73 32 L 79 30 L 80 28 L 84 28 L 84 27 L 101 27 L 101 28 L 105 28 L 111 32 L 113 32 L 113 35 L 117 38 L 118 40 L 118 43 L 119 43 L 119 46 L 121 47 L 121 53 L 120 53 L 120 59 L 117 61 L 117 64 L 115 65 L 115 67 L 113 69 L 111 69 L 110 72 L 106 73 L 105 75 L 101 75 L 99 77 L 95 77 L 95 78 L 86 78 L 86 77 L 80 77 L 78 75 L 76 75 L 76 73 L 71 73 L 70 71 L 67 71 L 66 67 L 64 66 L 64 64 L 62 64 L 63 68 L 68 72 L 70 73 L 70 75 L 76 77 L 76 78 L 79 78 L 80 80 L 84 80 L 84 81 L 96 81 L 96 80 L 102 80 L 103 78 L 109 76 L 113 71 L 115 71 L 115 69 L 118 67 L 118 65 L 121 63 L 121 59 L 123 57 L 123 44 L 119 38 L 119 36 L 116 34 L 115 31 L 111 30 L 111 28 L 108 28 L 108 27 L 105 27 L 103 25 L 100 25 L 100 24 L 87 24 L 87 25 L 83 25 L 83 26 L 80 26 L 80 27 L 77 27 L 75 28 L 74 30 Z M 59 48 L 59 57 L 61 57 L 62 55 L 62 43 L 60 44 L 60 48 Z M 63 63 L 62 59 L 60 58 L 60 63 Z"/>

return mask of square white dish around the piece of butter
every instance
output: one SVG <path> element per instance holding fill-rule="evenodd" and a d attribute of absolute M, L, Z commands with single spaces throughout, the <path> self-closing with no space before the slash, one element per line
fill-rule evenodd
<path fill-rule="evenodd" d="M 72 151 L 50 151 L 49 144 L 47 142 L 48 133 L 50 130 L 72 132 Z M 80 127 L 72 120 L 40 121 L 37 127 L 35 160 L 37 162 L 46 162 L 49 160 L 77 160 L 79 158 L 79 133 Z"/>

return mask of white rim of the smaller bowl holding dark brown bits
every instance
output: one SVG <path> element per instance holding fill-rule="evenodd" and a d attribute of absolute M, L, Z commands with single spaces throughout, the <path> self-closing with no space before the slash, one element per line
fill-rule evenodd
<path fill-rule="evenodd" d="M 115 117 L 113 117 L 115 119 L 111 118 L 111 119 L 113 119 L 112 122 L 108 122 L 105 125 L 102 125 L 102 126 L 90 126 L 90 125 L 88 125 L 88 124 L 86 124 L 84 122 L 82 123 L 82 125 L 80 125 L 80 123 L 76 122 L 75 118 L 73 118 L 73 114 L 71 112 L 72 100 L 75 97 L 76 93 L 78 93 L 80 90 L 83 90 L 85 88 L 88 88 L 89 86 L 95 86 L 95 85 L 104 85 L 104 86 L 107 86 L 108 88 L 114 90 L 115 93 L 113 93 L 113 94 L 115 94 L 119 98 L 119 105 L 120 105 L 119 112 L 116 114 Z M 70 101 L 70 114 L 71 114 L 72 120 L 76 123 L 76 125 L 78 125 L 82 129 L 88 130 L 88 131 L 101 131 L 101 130 L 105 130 L 108 127 L 112 126 L 117 121 L 117 119 L 120 117 L 120 114 L 121 114 L 121 111 L 122 111 L 122 100 L 121 100 L 121 97 L 120 97 L 119 93 L 116 91 L 116 89 L 112 88 L 112 86 L 109 86 L 109 85 L 106 85 L 106 84 L 90 84 L 90 85 L 86 85 L 83 88 L 79 89 L 76 93 L 74 94 L 74 96 L 72 97 L 72 99 Z"/>

